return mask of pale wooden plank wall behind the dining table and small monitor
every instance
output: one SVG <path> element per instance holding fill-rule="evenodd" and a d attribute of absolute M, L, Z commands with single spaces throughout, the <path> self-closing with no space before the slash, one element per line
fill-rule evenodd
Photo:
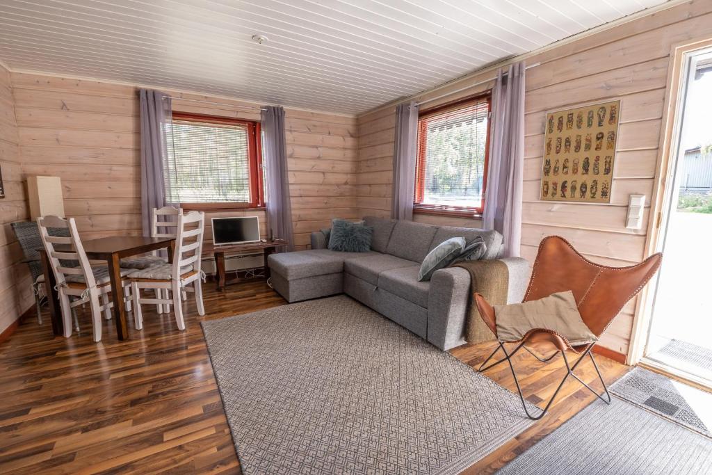
<path fill-rule="evenodd" d="M 137 88 L 95 80 L 13 73 L 24 175 L 61 177 L 65 209 L 85 239 L 140 234 L 140 124 Z M 258 120 L 257 104 L 167 90 L 174 110 Z M 287 147 L 295 244 L 336 216 L 355 217 L 356 120 L 288 109 Z M 264 212 L 206 216 L 260 216 Z M 211 229 L 206 229 L 211 239 Z"/>

